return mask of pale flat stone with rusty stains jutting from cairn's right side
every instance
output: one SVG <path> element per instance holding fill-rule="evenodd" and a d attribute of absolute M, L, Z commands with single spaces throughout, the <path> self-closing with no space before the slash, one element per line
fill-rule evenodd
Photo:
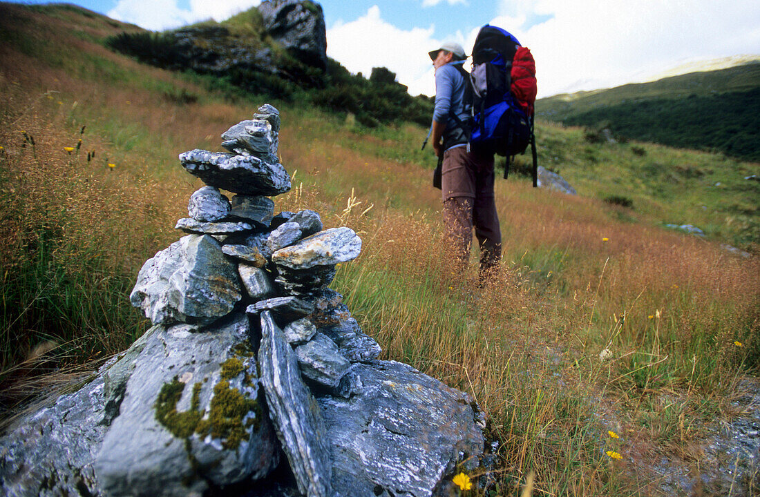
<path fill-rule="evenodd" d="M 346 263 L 362 250 L 362 239 L 351 228 L 330 228 L 303 238 L 272 254 L 272 262 L 290 269 Z"/>

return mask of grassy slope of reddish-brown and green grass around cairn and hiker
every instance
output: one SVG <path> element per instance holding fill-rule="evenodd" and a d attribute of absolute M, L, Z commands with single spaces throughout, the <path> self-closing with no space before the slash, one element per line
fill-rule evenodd
<path fill-rule="evenodd" d="M 0 426 L 81 387 L 148 329 L 128 294 L 182 236 L 172 227 L 202 186 L 179 153 L 220 151 L 220 134 L 268 102 L 294 185 L 275 212 L 354 229 L 362 253 L 331 288 L 381 358 L 483 408 L 489 458 L 470 495 L 516 497 L 528 481 L 558 496 L 758 488 L 736 445 L 756 450 L 760 182 L 745 178 L 757 163 L 540 119 L 540 164 L 578 196 L 497 171 L 502 272 L 479 288 L 477 249 L 464 272 L 445 257 L 425 126 L 363 124 L 339 88 L 333 110 L 300 90 L 278 99 L 158 68 L 109 48 L 125 31 L 142 32 L 67 5 L 0 3 Z"/>

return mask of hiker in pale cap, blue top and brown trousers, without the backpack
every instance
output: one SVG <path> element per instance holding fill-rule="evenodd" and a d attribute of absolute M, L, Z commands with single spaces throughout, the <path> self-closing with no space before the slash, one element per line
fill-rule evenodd
<path fill-rule="evenodd" d="M 480 244 L 480 279 L 498 270 L 502 233 L 493 195 L 493 153 L 469 151 L 464 129 L 469 109 L 464 108 L 467 55 L 458 43 L 444 43 L 429 52 L 435 67 L 435 110 L 431 138 L 441 162 L 441 190 L 445 240 L 458 268 L 467 266 L 472 229 Z"/>

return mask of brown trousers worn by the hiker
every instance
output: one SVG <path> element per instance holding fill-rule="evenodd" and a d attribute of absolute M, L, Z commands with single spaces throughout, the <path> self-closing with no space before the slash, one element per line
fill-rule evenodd
<path fill-rule="evenodd" d="M 493 197 L 493 156 L 477 156 L 466 146 L 443 154 L 441 190 L 446 243 L 461 266 L 470 258 L 472 231 L 480 244 L 480 275 L 492 272 L 502 257 L 502 231 Z"/>

